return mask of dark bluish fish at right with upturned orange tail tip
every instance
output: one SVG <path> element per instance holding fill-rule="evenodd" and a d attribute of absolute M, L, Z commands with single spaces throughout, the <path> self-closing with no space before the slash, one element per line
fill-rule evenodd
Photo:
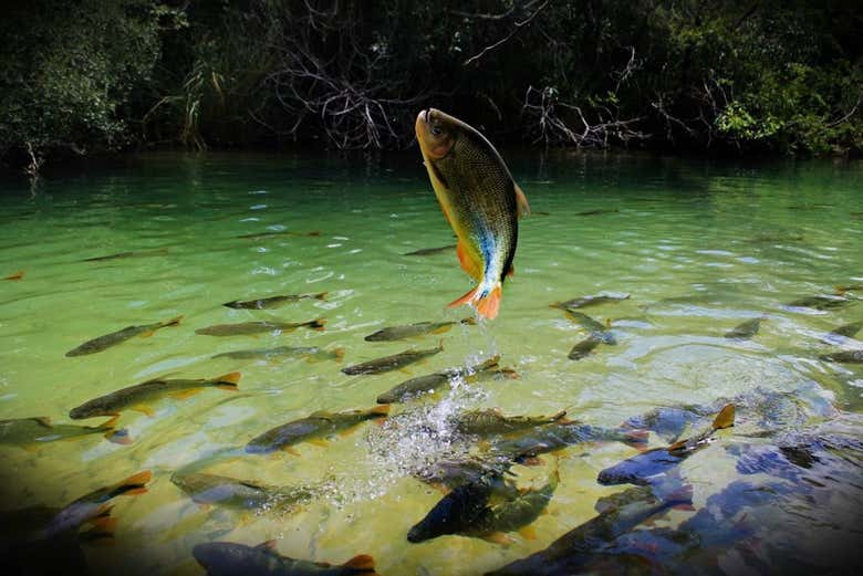
<path fill-rule="evenodd" d="M 708 446 L 714 432 L 734 426 L 735 405 L 726 405 L 714 418 L 708 430 L 700 434 L 678 440 L 664 448 L 645 450 L 600 472 L 597 481 L 603 485 L 638 484 L 647 485 L 663 480 L 669 470 Z"/>

